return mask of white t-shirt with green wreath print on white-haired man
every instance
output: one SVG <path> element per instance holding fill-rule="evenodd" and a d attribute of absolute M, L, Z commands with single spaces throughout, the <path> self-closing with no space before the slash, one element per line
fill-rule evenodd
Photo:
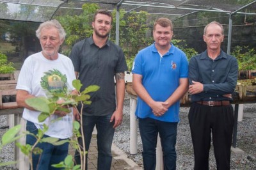
<path fill-rule="evenodd" d="M 35 97 L 47 97 L 49 91 L 58 91 L 67 88 L 68 91 L 74 90 L 72 81 L 76 79 L 74 66 L 67 56 L 58 54 L 58 59 L 46 59 L 42 52 L 29 56 L 22 65 L 19 73 L 16 89 L 28 91 Z M 47 125 L 49 129 L 45 133 L 51 137 L 66 139 L 72 136 L 72 111 L 67 116 L 57 116 L 53 114 L 44 122 L 38 122 L 38 115 L 41 112 L 24 109 L 22 117 L 25 120 L 35 123 L 37 128 Z M 57 121 L 52 121 L 56 120 Z"/>

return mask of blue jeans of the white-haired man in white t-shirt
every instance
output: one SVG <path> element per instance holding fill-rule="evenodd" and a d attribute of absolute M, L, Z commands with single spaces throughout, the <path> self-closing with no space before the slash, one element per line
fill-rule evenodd
<path fill-rule="evenodd" d="M 31 121 L 27 121 L 26 130 L 32 134 L 38 134 L 38 129 L 35 124 Z M 49 137 L 44 135 L 44 137 Z M 63 140 L 63 139 L 60 139 Z M 33 146 L 35 144 L 36 138 L 33 135 L 26 136 L 26 144 Z M 50 143 L 38 143 L 36 147 L 43 150 L 41 155 L 32 155 L 33 169 L 34 170 L 45 170 L 45 169 L 59 169 L 52 167 L 52 164 L 59 164 L 64 161 L 68 154 L 68 143 L 61 144 L 60 146 L 54 146 Z M 31 165 L 30 165 L 31 166 Z"/>

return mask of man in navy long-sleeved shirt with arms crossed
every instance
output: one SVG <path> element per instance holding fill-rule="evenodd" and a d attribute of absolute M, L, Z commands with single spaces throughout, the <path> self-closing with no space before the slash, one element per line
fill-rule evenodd
<path fill-rule="evenodd" d="M 217 169 L 230 169 L 234 110 L 230 101 L 236 88 L 237 59 L 221 50 L 223 26 L 211 22 L 204 28 L 207 50 L 189 61 L 191 108 L 189 125 L 195 169 L 209 169 L 211 134 Z"/>

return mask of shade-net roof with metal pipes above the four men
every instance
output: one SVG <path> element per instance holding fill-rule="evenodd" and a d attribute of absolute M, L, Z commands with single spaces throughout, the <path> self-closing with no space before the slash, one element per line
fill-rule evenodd
<path fill-rule="evenodd" d="M 0 0 L 0 19 L 44 22 L 70 9 L 83 12 L 84 3 L 97 3 L 108 10 L 168 15 L 172 20 L 200 11 L 256 16 L 253 0 Z"/>

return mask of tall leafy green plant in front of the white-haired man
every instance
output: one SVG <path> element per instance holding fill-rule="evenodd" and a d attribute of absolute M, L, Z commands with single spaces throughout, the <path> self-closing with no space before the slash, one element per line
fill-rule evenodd
<path fill-rule="evenodd" d="M 67 140 L 61 140 L 54 138 L 54 137 L 44 137 L 45 132 L 48 130 L 48 127 L 44 125 L 44 128 L 38 129 L 38 134 L 34 135 L 30 132 L 26 131 L 23 132 L 22 135 L 19 135 L 20 132 L 20 125 L 17 125 L 8 132 L 6 132 L 2 139 L 0 144 L 0 150 L 3 148 L 5 144 L 12 143 L 13 141 L 16 141 L 20 137 L 23 137 L 24 135 L 33 135 L 36 138 L 36 143 L 31 146 L 29 144 L 22 145 L 20 143 L 16 143 L 16 145 L 20 148 L 20 151 L 24 153 L 24 155 L 27 155 L 29 157 L 29 163 L 32 165 L 32 154 L 41 154 L 42 150 L 40 148 L 36 147 L 36 144 L 38 143 L 51 143 L 53 145 L 61 145 L 63 143 L 70 143 L 73 148 L 79 151 L 80 158 L 81 158 L 81 165 L 74 165 L 74 160 L 72 158 L 72 155 L 68 155 L 63 162 L 60 162 L 59 164 L 52 165 L 54 167 L 60 167 L 61 169 L 85 169 L 85 155 L 87 151 L 85 150 L 85 142 L 84 142 L 84 136 L 83 136 L 83 128 L 81 128 L 80 133 L 80 125 L 83 125 L 83 116 L 81 116 L 81 112 L 83 111 L 83 105 L 91 104 L 92 101 L 90 101 L 90 95 L 88 93 L 92 93 L 97 91 L 100 87 L 99 86 L 88 86 L 84 91 L 80 91 L 82 84 L 79 80 L 74 80 L 72 82 L 72 85 L 76 90 L 78 91 L 78 94 L 74 95 L 71 93 L 67 93 L 66 91 L 63 91 L 61 93 L 55 93 L 53 91 L 51 93 L 50 98 L 45 97 L 36 97 L 36 98 L 28 98 L 25 100 L 26 104 L 28 104 L 30 107 L 33 107 L 37 111 L 40 111 L 40 115 L 38 116 L 38 121 L 43 122 L 46 118 L 51 117 L 52 114 L 56 111 L 64 111 L 64 112 L 70 112 L 68 107 L 74 107 L 74 109 L 77 109 L 77 105 L 81 104 L 81 111 L 80 111 L 80 121 L 74 121 L 73 123 L 73 137 L 71 139 Z M 60 102 L 61 100 L 61 102 Z M 58 120 L 54 120 L 58 121 Z M 83 144 L 82 146 L 78 143 L 78 138 L 82 137 Z M 13 162 L 15 163 L 15 162 Z M 5 164 L 0 164 L 0 166 L 4 166 Z M 31 166 L 31 169 L 33 170 L 33 166 Z"/>

